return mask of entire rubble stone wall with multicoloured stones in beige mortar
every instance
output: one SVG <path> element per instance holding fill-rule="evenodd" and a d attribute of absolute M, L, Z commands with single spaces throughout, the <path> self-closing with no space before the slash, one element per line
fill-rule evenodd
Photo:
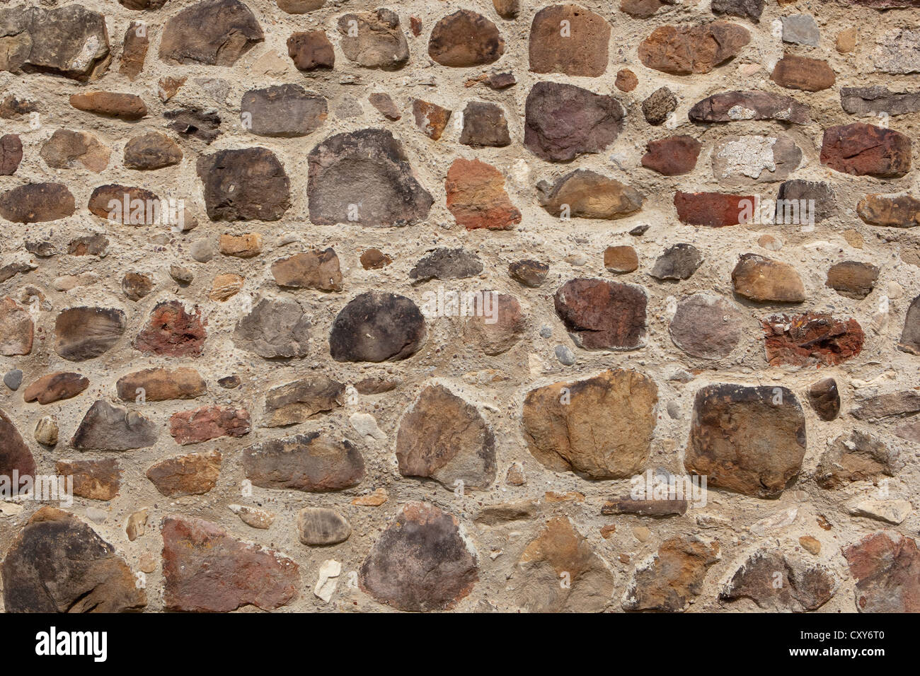
<path fill-rule="evenodd" d="M 2 607 L 920 611 L 918 12 L 0 0 Z"/>

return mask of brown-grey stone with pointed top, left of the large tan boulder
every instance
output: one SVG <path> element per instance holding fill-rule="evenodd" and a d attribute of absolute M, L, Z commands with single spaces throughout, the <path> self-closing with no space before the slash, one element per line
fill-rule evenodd
<path fill-rule="evenodd" d="M 476 407 L 443 385 L 429 385 L 397 433 L 399 474 L 432 478 L 453 490 L 485 490 L 495 481 L 495 438 Z"/>

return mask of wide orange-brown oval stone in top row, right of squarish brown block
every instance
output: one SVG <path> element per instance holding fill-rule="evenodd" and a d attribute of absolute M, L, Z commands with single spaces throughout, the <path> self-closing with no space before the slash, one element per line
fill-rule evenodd
<path fill-rule="evenodd" d="M 747 29 L 725 21 L 700 26 L 661 26 L 639 43 L 638 58 L 662 73 L 706 74 L 738 56 L 750 41 Z"/>

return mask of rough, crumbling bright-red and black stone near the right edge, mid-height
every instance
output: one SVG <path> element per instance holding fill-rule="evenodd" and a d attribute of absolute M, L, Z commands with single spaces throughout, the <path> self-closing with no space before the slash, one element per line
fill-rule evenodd
<path fill-rule="evenodd" d="M 865 339 L 856 319 L 819 313 L 774 315 L 761 326 L 770 366 L 834 366 L 856 357 Z"/>

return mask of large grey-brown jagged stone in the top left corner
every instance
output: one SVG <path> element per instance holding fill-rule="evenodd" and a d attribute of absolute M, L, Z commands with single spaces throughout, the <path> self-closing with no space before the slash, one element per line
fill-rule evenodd
<path fill-rule="evenodd" d="M 106 17 L 80 5 L 0 9 L 0 71 L 96 79 L 109 65 Z"/>

